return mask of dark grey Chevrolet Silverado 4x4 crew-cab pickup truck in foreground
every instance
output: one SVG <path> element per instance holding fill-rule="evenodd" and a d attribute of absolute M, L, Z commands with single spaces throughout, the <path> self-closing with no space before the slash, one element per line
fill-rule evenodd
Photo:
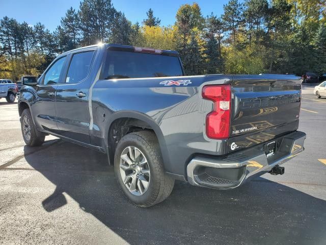
<path fill-rule="evenodd" d="M 165 200 L 175 180 L 235 188 L 304 151 L 300 77 L 185 76 L 177 52 L 117 44 L 58 56 L 18 101 L 23 139 L 107 154 L 126 197 Z"/>

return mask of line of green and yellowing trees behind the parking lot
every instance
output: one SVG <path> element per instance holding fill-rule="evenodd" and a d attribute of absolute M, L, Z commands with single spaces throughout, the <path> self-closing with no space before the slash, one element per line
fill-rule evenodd
<path fill-rule="evenodd" d="M 131 23 L 111 0 L 83 0 L 53 32 L 6 16 L 0 77 L 38 75 L 58 54 L 98 42 L 176 50 L 187 75 L 326 72 L 326 0 L 230 0 L 223 9 L 203 16 L 184 4 L 165 27 L 152 9 Z"/>

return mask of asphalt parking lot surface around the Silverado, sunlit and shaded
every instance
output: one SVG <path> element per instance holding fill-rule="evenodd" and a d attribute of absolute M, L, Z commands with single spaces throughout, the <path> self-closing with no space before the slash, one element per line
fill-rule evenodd
<path fill-rule="evenodd" d="M 282 176 L 219 191 L 177 182 L 130 204 L 106 156 L 47 136 L 24 146 L 17 103 L 0 99 L 0 244 L 325 244 L 326 98 L 303 89 L 305 152 Z"/>

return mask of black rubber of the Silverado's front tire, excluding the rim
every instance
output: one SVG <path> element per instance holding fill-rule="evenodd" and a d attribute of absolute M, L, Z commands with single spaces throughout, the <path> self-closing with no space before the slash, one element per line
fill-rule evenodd
<path fill-rule="evenodd" d="M 29 120 L 30 138 L 26 137 L 25 134 L 24 134 L 24 129 L 23 129 L 23 128 L 25 128 L 25 125 L 24 125 L 24 122 L 23 122 L 24 117 L 26 117 L 26 119 Z M 33 146 L 39 146 L 39 145 L 44 143 L 45 136 L 39 136 L 38 137 L 37 134 L 36 134 L 36 129 L 35 129 L 35 126 L 34 126 L 34 123 L 33 123 L 33 119 L 32 119 L 30 109 L 25 109 L 21 113 L 20 126 L 21 126 L 22 138 L 24 139 L 26 145 L 33 147 Z"/>

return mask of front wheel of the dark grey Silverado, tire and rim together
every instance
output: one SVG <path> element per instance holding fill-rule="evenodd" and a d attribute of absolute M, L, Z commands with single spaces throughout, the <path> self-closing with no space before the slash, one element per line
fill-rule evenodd
<path fill-rule="evenodd" d="M 44 143 L 45 136 L 38 137 L 32 120 L 30 109 L 25 109 L 20 117 L 22 137 L 28 146 L 39 146 Z"/>

